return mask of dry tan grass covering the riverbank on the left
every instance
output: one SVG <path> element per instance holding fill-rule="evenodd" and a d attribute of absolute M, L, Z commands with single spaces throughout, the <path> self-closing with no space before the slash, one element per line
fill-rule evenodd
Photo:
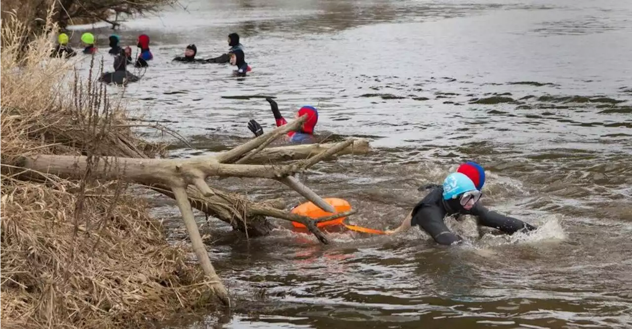
<path fill-rule="evenodd" d="M 50 22 L 50 21 L 49 21 Z M 0 22 L 0 328 L 130 328 L 214 304 L 190 251 L 167 244 L 118 182 L 71 182 L 9 164 L 22 154 L 153 155 L 92 82 L 68 87 L 52 42 Z M 46 28 L 54 30 L 50 23 Z"/>

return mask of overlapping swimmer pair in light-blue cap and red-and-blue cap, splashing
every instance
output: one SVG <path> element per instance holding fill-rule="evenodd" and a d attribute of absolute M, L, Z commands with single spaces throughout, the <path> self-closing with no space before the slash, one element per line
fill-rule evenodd
<path fill-rule="evenodd" d="M 408 230 L 412 225 L 419 225 L 438 244 L 456 244 L 462 239 L 450 232 L 444 218 L 464 214 L 476 216 L 480 225 L 497 228 L 509 234 L 536 229 L 533 225 L 516 218 L 489 211 L 478 202 L 484 184 L 485 171 L 480 165 L 474 162 L 462 164 L 456 173 L 447 176 L 442 186 L 428 184 L 422 187 L 432 190 L 413 208 L 398 228 L 387 233 L 398 233 Z"/>

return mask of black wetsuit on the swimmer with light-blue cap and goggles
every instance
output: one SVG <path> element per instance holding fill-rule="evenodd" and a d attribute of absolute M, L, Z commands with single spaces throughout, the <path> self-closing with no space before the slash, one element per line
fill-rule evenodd
<path fill-rule="evenodd" d="M 477 216 L 478 223 L 485 227 L 493 227 L 502 232 L 513 234 L 520 230 L 531 231 L 536 228 L 524 221 L 513 217 L 504 216 L 495 211 L 489 211 L 480 201 L 477 202 L 470 211 L 463 209 L 458 203 L 458 199 L 444 201 L 443 187 L 434 187 L 420 201 L 411 213 L 411 225 L 419 225 L 425 232 L 430 234 L 438 244 L 450 245 L 460 242 L 461 237 L 450 232 L 444 223 L 444 218 L 454 214 L 471 214 Z"/>

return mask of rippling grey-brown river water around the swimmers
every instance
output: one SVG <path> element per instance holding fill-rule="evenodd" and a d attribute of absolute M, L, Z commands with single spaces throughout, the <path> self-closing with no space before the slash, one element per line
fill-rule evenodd
<path fill-rule="evenodd" d="M 94 31 L 104 53 L 109 31 Z M 190 43 L 221 54 L 230 32 L 248 77 L 171 62 Z M 632 2 L 191 0 L 119 31 L 130 45 L 140 33 L 155 57 L 126 101 L 193 144 L 178 156 L 243 142 L 250 118 L 269 130 L 269 105 L 252 96 L 275 96 L 287 117 L 317 106 L 321 136 L 372 141 L 371 154 L 301 178 L 350 201 L 355 223 L 396 227 L 416 187 L 474 159 L 488 175 L 482 202 L 540 227 L 506 237 L 470 219 L 448 223 L 468 237 L 459 247 L 418 228 L 332 233 L 325 246 L 285 228 L 246 240 L 210 221 L 236 307 L 179 328 L 632 327 Z M 275 182 L 216 184 L 301 202 Z M 155 211 L 183 232 L 173 203 Z"/>

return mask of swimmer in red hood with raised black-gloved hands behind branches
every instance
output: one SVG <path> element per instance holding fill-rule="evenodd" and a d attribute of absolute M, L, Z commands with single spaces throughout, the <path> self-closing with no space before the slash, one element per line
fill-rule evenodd
<path fill-rule="evenodd" d="M 274 115 L 277 127 L 281 127 L 282 125 L 288 123 L 288 121 L 286 121 L 281 115 L 281 112 L 279 112 L 279 106 L 274 99 L 267 97 L 265 100 L 270 103 L 270 109 L 272 109 L 272 114 Z M 287 133 L 285 136 L 287 142 L 292 144 L 312 144 L 316 142 L 313 132 L 316 127 L 316 123 L 318 123 L 318 110 L 313 106 L 302 106 L 296 113 L 296 118 L 303 115 L 307 115 L 307 120 L 305 120 L 299 130 Z M 264 129 L 255 120 L 248 121 L 248 129 L 250 129 L 250 131 L 257 137 L 263 135 L 264 133 Z"/>

